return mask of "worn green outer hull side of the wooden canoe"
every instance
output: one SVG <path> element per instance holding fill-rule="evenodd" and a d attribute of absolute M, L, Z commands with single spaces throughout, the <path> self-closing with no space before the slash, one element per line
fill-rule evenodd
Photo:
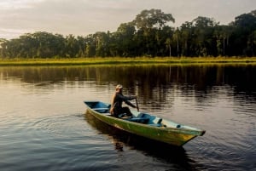
<path fill-rule="evenodd" d="M 84 101 L 84 103 L 86 105 L 86 101 Z M 170 145 L 182 146 L 189 142 L 189 140 L 194 139 L 196 136 L 201 136 L 205 134 L 205 131 L 191 127 L 156 127 L 150 124 L 131 122 L 125 119 L 112 117 L 109 115 L 109 113 L 102 114 L 101 112 L 90 108 L 90 105 L 87 105 L 87 111 L 103 123 L 108 123 L 108 125 L 111 125 L 115 128 L 119 128 L 128 133 L 137 134 L 139 136 L 143 136 L 151 140 L 164 142 Z"/>

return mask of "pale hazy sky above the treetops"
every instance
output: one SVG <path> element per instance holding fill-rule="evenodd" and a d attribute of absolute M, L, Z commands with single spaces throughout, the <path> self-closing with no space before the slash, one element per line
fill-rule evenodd
<path fill-rule="evenodd" d="M 0 38 L 47 31 L 87 36 L 96 31 L 117 31 L 121 23 L 144 9 L 172 14 L 178 27 L 198 16 L 228 25 L 240 14 L 256 9 L 256 0 L 0 0 Z"/>

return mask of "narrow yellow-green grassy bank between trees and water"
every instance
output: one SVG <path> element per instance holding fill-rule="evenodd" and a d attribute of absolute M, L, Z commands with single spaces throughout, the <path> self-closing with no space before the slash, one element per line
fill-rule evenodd
<path fill-rule="evenodd" d="M 119 64 L 253 64 L 253 58 L 73 58 L 73 59 L 1 59 L 0 66 L 81 66 L 81 65 L 119 65 Z"/>

